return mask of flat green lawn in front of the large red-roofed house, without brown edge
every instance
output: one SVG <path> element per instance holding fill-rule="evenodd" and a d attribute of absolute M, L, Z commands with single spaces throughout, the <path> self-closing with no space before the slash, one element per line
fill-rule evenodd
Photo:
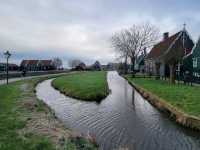
<path fill-rule="evenodd" d="M 171 85 L 167 81 L 153 78 L 131 78 L 130 75 L 126 77 L 183 112 L 200 117 L 200 87 L 184 84 Z"/>

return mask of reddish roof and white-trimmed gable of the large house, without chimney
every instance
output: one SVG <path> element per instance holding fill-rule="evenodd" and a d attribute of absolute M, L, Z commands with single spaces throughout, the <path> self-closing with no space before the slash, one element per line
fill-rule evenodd
<path fill-rule="evenodd" d="M 186 30 L 180 31 L 167 40 L 155 45 L 148 58 L 165 62 L 177 62 L 191 53 L 194 42 Z"/>

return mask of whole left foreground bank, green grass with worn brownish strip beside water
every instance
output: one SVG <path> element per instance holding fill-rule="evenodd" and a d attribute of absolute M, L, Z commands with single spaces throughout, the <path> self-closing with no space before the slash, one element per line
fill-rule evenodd
<path fill-rule="evenodd" d="M 89 140 L 66 129 L 54 113 L 37 100 L 37 78 L 0 86 L 1 150 L 97 149 Z"/>

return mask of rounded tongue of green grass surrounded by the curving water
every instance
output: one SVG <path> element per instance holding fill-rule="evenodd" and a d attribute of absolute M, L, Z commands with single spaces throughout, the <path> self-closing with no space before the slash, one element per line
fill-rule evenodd
<path fill-rule="evenodd" d="M 87 101 L 100 101 L 109 93 L 104 71 L 78 72 L 58 77 L 52 85 L 68 96 Z"/>

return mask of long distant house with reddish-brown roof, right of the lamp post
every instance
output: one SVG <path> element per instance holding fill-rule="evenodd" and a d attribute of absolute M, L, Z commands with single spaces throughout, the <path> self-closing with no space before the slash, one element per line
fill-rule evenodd
<path fill-rule="evenodd" d="M 20 69 L 27 71 L 47 71 L 55 70 L 55 65 L 52 60 L 23 60 Z"/>

